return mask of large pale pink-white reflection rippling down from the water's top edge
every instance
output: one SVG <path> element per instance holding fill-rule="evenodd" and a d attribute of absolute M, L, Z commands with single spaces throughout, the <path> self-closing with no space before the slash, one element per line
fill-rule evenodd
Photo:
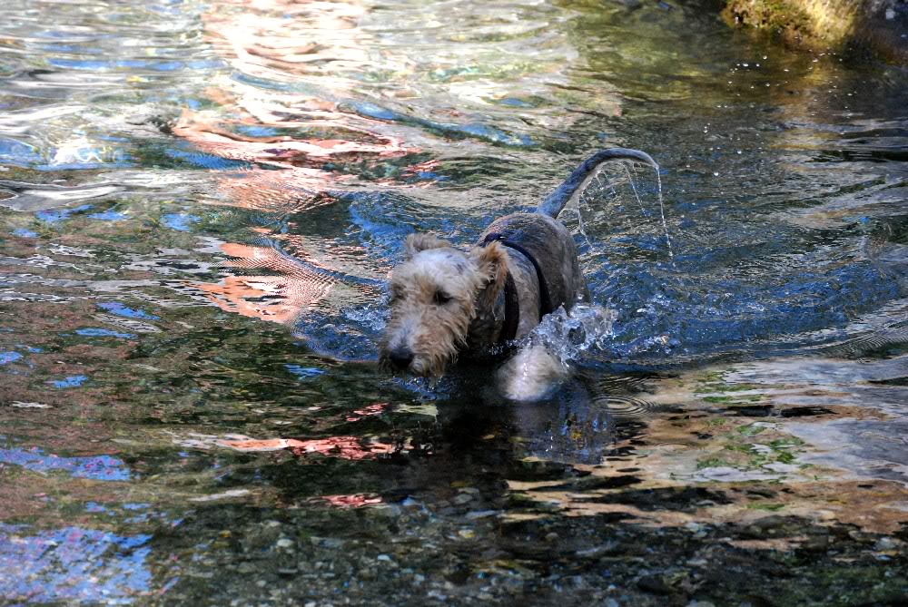
<path fill-rule="evenodd" d="M 239 186 L 222 180 L 229 203 L 265 210 L 271 202 L 282 210 L 311 191 L 350 181 L 324 171 L 325 162 L 419 152 L 399 126 L 340 107 L 360 96 L 362 74 L 376 68 L 376 41 L 359 25 L 369 13 L 356 0 L 214 0 L 202 15 L 215 52 L 256 83 L 213 82 L 205 93 L 217 109 L 185 110 L 174 134 L 222 158 L 285 170 L 252 169 Z M 411 61 L 384 50 L 380 64 L 403 72 Z M 301 196 L 302 188 L 309 196 Z"/>

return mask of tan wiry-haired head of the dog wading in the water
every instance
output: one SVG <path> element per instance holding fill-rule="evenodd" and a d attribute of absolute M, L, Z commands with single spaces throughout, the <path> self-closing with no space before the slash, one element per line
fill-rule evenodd
<path fill-rule="evenodd" d="M 379 362 L 392 371 L 439 376 L 466 344 L 469 323 L 488 308 L 508 275 L 508 254 L 491 242 L 465 253 L 426 234 L 411 234 L 408 259 L 390 280 L 390 320 Z"/>

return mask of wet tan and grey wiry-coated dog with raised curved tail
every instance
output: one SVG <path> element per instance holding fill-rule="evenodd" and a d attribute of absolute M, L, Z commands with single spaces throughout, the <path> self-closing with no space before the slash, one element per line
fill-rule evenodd
<path fill-rule="evenodd" d="M 588 300 L 574 239 L 555 218 L 605 162 L 614 160 L 657 168 L 656 162 L 637 150 L 597 152 L 537 212 L 513 213 L 493 221 L 467 252 L 429 235 L 410 235 L 408 260 L 394 269 L 390 280 L 390 320 L 380 342 L 380 364 L 414 375 L 438 376 L 459 355 L 498 345 L 505 327 L 508 273 L 518 297 L 517 339 L 539 324 L 540 312 L 561 306 L 569 311 L 577 301 Z M 487 239 L 489 235 L 500 235 L 508 246 Z M 540 306 L 540 280 L 548 289 L 551 309 Z M 522 365 L 530 367 L 540 366 Z"/>

